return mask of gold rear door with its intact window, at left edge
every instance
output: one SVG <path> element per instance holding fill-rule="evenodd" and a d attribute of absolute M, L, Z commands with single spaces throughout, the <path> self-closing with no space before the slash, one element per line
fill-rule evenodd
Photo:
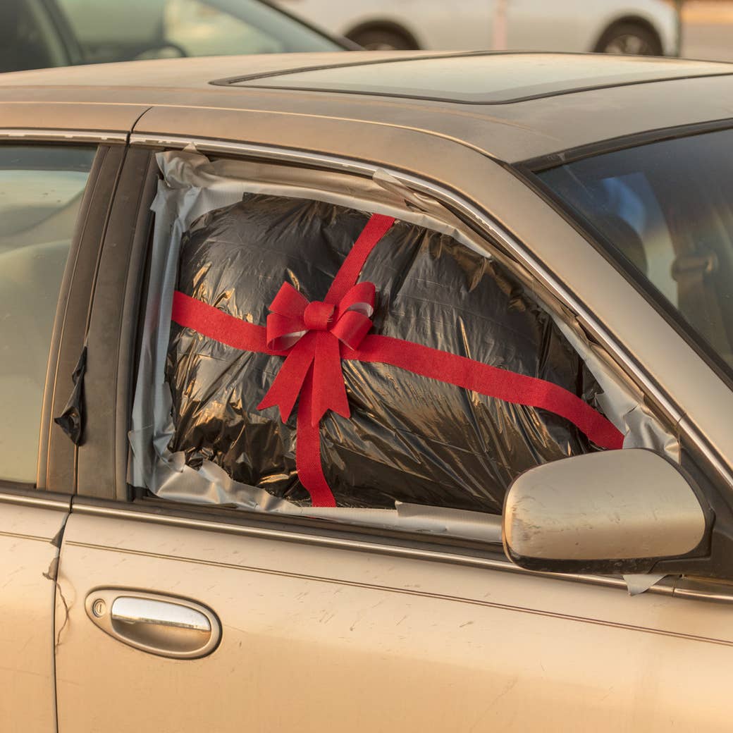
<path fill-rule="evenodd" d="M 0 720 L 8 732 L 56 729 L 55 581 L 75 446 L 52 418 L 72 393 L 121 154 L 122 146 L 89 141 L 13 141 L 0 130 Z"/>

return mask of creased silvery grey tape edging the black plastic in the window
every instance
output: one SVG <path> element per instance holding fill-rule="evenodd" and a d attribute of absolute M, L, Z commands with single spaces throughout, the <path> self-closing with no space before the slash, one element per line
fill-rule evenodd
<path fill-rule="evenodd" d="M 198 216 L 238 202 L 243 193 L 252 191 L 321 199 L 353 206 L 360 205 L 361 201 L 364 210 L 396 216 L 402 221 L 413 221 L 444 232 L 474 251 L 480 251 L 482 243 L 480 240 L 479 243 L 469 240 L 463 232 L 458 232 L 452 215 L 437 202 L 408 192 L 401 183 L 387 174 L 383 174 L 384 180 L 379 181 L 385 191 L 382 195 L 374 183 L 361 179 L 352 180 L 352 177 L 345 174 L 292 170 L 244 161 L 210 162 L 196 152 L 161 153 L 158 155 L 158 163 L 164 180 L 158 187 L 158 196 L 152 207 L 156 214 L 150 272 L 152 295 L 147 302 L 141 364 L 133 408 L 133 429 L 130 432 L 132 455 L 128 480 L 133 485 L 150 488 L 161 498 L 177 501 L 224 504 L 296 515 L 305 512 L 312 516 L 314 512 L 319 515 L 325 512 L 326 515 L 333 516 L 334 520 L 348 523 L 358 523 L 358 516 L 361 516 L 365 517 L 364 523 L 371 524 L 376 521 L 375 512 L 379 512 L 379 517 L 392 517 L 379 523 L 391 526 L 397 517 L 394 510 L 317 510 L 297 507 L 290 501 L 271 496 L 261 487 L 233 481 L 218 465 L 208 460 L 202 460 L 200 466 L 192 468 L 185 465 L 183 453 L 170 452 L 169 443 L 174 434 L 174 426 L 164 365 L 180 237 Z M 386 191 L 387 188 L 391 190 Z M 410 201 L 410 198 L 413 200 Z M 408 200 L 407 204 L 404 199 Z M 559 323 L 554 313 L 553 319 Z M 583 345 L 584 336 L 581 336 L 577 328 L 571 329 L 568 338 L 575 347 L 576 342 Z M 674 439 L 661 431 L 656 421 L 640 407 L 638 396 L 627 388 L 618 386 L 613 372 L 604 367 L 602 360 L 596 361 L 597 364 L 591 365 L 592 371 L 606 391 L 598 396 L 598 400 L 616 427 L 628 432 L 627 417 L 636 411 L 641 416 L 642 430 L 640 438 L 634 435 L 635 440 L 638 438 L 644 446 L 658 451 L 662 451 L 666 444 L 674 443 Z M 596 369 L 600 372 L 596 372 Z M 616 385 L 616 394 L 611 404 L 606 399 L 609 384 Z M 636 434 L 637 430 L 632 432 Z M 399 526 L 410 528 L 409 519 L 404 516 L 397 518 Z"/>

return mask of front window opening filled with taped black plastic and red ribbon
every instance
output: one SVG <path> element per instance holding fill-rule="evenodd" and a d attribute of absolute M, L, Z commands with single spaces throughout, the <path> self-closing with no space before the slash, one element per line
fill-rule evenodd
<path fill-rule="evenodd" d="M 369 201 L 344 174 L 158 163 L 133 485 L 498 541 L 534 465 L 622 443 L 677 457 L 579 329 L 437 202 L 388 176 L 361 183 Z"/>

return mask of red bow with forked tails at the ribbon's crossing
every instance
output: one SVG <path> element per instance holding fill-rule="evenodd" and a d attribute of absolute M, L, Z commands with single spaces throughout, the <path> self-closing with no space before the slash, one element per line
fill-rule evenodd
<path fill-rule="evenodd" d="M 341 344 L 350 349 L 361 344 L 372 328 L 374 298 L 374 284 L 360 282 L 337 303 L 330 291 L 325 301 L 309 303 L 290 283 L 283 283 L 270 303 L 266 334 L 268 348 L 287 356 L 257 409 L 278 405 L 286 421 L 313 367 L 313 399 L 306 419 L 315 426 L 328 410 L 350 417 Z"/>

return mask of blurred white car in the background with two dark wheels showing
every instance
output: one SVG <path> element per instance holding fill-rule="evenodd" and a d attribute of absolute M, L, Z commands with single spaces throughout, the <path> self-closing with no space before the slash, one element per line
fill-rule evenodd
<path fill-rule="evenodd" d="M 364 48 L 677 56 L 672 0 L 278 0 Z"/>

